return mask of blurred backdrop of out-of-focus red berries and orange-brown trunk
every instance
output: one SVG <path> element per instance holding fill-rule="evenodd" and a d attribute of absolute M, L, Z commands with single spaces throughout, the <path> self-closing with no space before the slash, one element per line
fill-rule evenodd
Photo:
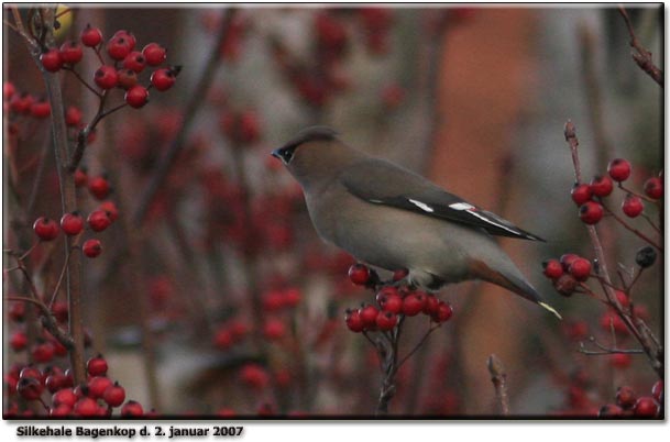
<path fill-rule="evenodd" d="M 628 9 L 659 66 L 662 12 Z M 392 413 L 495 415 L 491 354 L 506 367 L 513 415 L 594 416 L 619 385 L 651 387 L 642 355 L 579 352 L 591 335 L 611 342 L 605 307 L 561 297 L 541 266 L 564 253 L 594 257 L 570 198 L 568 120 L 586 180 L 624 157 L 634 165 L 628 187 L 641 189 L 663 166 L 662 89 L 631 59 L 616 8 L 86 8 L 62 21 L 61 41 L 78 38 L 87 24 L 106 38 L 127 30 L 139 47 L 157 42 L 166 63 L 182 66 L 171 90 L 151 90 L 144 108 L 106 118 L 83 162 L 89 180 L 111 184 L 108 199 L 121 220 L 96 235 L 103 253 L 83 266 L 89 352 L 105 355 L 110 376 L 145 409 L 373 412 L 376 354 L 343 314 L 374 295 L 350 283 L 353 259 L 319 241 L 299 188 L 268 155 L 312 124 L 548 240 L 502 244 L 564 320 L 487 284 L 446 288 L 439 297 L 454 317 L 398 373 Z M 7 26 L 3 62 L 4 81 L 44 93 L 25 44 Z M 77 71 L 92 79 L 99 64 L 86 49 Z M 63 86 L 66 104 L 89 121 L 98 98 L 69 73 Z M 117 102 L 122 98 L 119 91 Z M 11 246 L 35 218 L 59 219 L 61 198 L 53 158 L 44 167 L 31 161 L 48 143 L 48 124 L 4 122 L 6 151 L 17 147 L 22 165 L 11 186 L 6 165 L 3 243 Z M 20 133 L 15 144 L 7 141 L 10 123 Z M 164 159 L 168 153 L 174 161 Z M 613 207 L 623 197 L 611 197 Z M 79 198 L 83 212 L 100 203 L 86 188 Z M 26 200 L 33 203 L 21 219 Z M 648 230 L 641 219 L 630 223 Z M 609 220 L 598 233 L 611 268 L 630 268 L 645 245 Z M 44 262 L 40 253 L 32 268 L 46 286 L 63 257 Z M 662 276 L 660 263 L 635 289 L 660 336 Z M 10 275 L 3 288 L 17 292 L 21 284 Z M 427 328 L 414 322 L 405 323 L 402 353 Z M 30 353 L 10 345 L 24 324 L 3 324 L 8 373 Z M 618 340 L 635 346 L 625 333 Z"/>

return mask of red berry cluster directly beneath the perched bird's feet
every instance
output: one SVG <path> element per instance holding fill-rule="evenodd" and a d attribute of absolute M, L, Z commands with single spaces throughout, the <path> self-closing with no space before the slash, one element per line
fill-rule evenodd
<path fill-rule="evenodd" d="M 396 287 L 397 281 L 406 276 L 400 270 L 394 275 L 394 281 L 380 284 L 374 270 L 363 264 L 349 268 L 349 278 L 359 286 L 376 290 L 375 303 L 364 303 L 359 309 L 347 310 L 345 322 L 349 330 L 355 333 L 363 331 L 389 331 L 397 327 L 403 318 L 426 314 L 435 323 L 448 321 L 453 309 L 448 302 L 435 295 L 411 287 Z"/>

